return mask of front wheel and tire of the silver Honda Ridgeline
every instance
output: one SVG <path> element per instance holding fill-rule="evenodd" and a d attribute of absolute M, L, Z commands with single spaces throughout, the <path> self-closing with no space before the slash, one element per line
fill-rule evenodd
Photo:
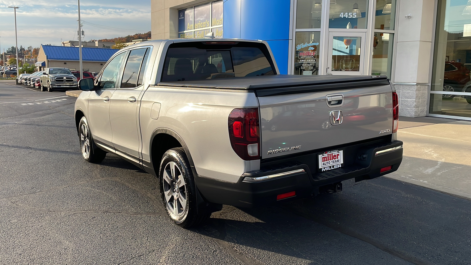
<path fill-rule="evenodd" d="M 105 159 L 106 152 L 93 143 L 87 119 L 82 117 L 79 123 L 79 143 L 82 157 L 90 163 L 99 164 Z"/>

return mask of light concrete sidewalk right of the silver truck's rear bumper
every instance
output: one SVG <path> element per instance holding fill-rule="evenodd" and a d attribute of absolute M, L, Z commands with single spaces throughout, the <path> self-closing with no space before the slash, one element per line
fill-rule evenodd
<path fill-rule="evenodd" d="M 404 159 L 387 177 L 471 199 L 471 122 L 400 117 Z"/>

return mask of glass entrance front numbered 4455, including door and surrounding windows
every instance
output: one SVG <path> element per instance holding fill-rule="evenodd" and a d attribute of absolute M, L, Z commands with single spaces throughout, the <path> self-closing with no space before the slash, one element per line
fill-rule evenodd
<path fill-rule="evenodd" d="M 290 73 L 392 78 L 396 1 L 294 1 Z"/>

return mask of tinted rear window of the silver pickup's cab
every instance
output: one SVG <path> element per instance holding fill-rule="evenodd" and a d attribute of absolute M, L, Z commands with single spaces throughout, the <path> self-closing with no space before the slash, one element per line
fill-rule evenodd
<path fill-rule="evenodd" d="M 190 43 L 191 47 L 179 47 Z M 254 44 L 257 45 L 246 47 L 233 42 L 171 44 L 165 58 L 162 82 L 275 75 L 266 47 L 260 43 Z"/>

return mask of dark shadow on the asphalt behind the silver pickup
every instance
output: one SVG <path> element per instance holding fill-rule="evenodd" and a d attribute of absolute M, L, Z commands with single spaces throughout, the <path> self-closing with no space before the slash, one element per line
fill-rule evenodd
<path fill-rule="evenodd" d="M 413 264 L 471 263 L 471 201 L 385 177 L 280 207 L 244 209 L 260 222 L 238 219 L 240 211 L 225 208 L 195 232 L 319 264 L 388 264 L 384 252 Z"/>

